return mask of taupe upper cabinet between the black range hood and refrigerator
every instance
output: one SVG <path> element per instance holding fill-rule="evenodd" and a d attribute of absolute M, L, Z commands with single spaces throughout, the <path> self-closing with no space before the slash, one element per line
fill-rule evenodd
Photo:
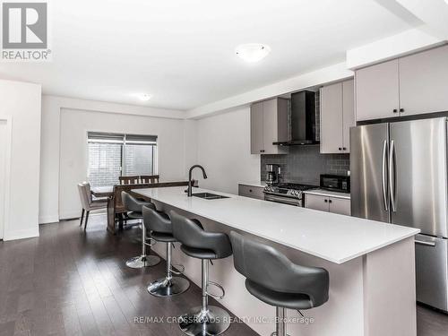
<path fill-rule="evenodd" d="M 349 129 L 355 126 L 354 81 L 321 89 L 321 153 L 349 153 Z"/>

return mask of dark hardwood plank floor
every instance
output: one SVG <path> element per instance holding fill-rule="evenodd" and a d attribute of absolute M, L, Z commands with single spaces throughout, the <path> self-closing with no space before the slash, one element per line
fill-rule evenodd
<path fill-rule="evenodd" d="M 0 242 L 0 336 L 182 335 L 177 323 L 135 319 L 182 314 L 200 305 L 200 289 L 192 284 L 177 297 L 152 297 L 146 284 L 163 276 L 164 261 L 127 268 L 125 260 L 140 252 L 140 230 L 112 236 L 105 228 L 105 216 L 91 216 L 86 233 L 72 220 L 40 226 L 39 238 Z M 418 306 L 418 336 L 447 331 L 448 315 Z M 234 323 L 223 335 L 256 333 Z"/>

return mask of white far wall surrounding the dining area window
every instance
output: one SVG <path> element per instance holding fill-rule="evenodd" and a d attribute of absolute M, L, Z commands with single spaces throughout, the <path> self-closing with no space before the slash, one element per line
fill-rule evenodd
<path fill-rule="evenodd" d="M 128 116 L 63 108 L 59 171 L 59 218 L 80 216 L 76 185 L 87 180 L 88 131 L 158 136 L 158 171 L 170 181 L 185 179 L 184 120 Z"/>

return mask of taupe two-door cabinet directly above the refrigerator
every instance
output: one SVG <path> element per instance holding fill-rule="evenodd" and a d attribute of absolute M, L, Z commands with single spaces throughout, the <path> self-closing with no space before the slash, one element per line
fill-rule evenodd
<path fill-rule="evenodd" d="M 355 73 L 357 121 L 448 111 L 448 46 Z"/>

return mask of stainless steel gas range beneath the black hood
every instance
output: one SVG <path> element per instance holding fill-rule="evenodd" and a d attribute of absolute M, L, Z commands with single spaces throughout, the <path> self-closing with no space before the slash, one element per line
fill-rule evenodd
<path fill-rule="evenodd" d="M 264 201 L 278 202 L 295 206 L 303 206 L 302 193 L 304 190 L 318 188 L 316 185 L 299 185 L 295 183 L 281 183 L 264 187 Z"/>

